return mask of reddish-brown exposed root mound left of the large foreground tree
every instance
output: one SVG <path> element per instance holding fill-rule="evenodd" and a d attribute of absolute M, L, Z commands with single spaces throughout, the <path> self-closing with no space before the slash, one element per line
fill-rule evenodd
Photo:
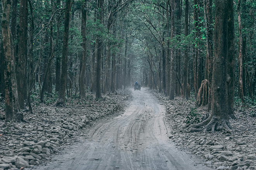
<path fill-rule="evenodd" d="M 202 81 L 201 86 L 198 90 L 195 106 L 200 107 L 201 105 L 207 105 L 208 95 L 209 95 L 209 81 L 205 79 Z"/>

